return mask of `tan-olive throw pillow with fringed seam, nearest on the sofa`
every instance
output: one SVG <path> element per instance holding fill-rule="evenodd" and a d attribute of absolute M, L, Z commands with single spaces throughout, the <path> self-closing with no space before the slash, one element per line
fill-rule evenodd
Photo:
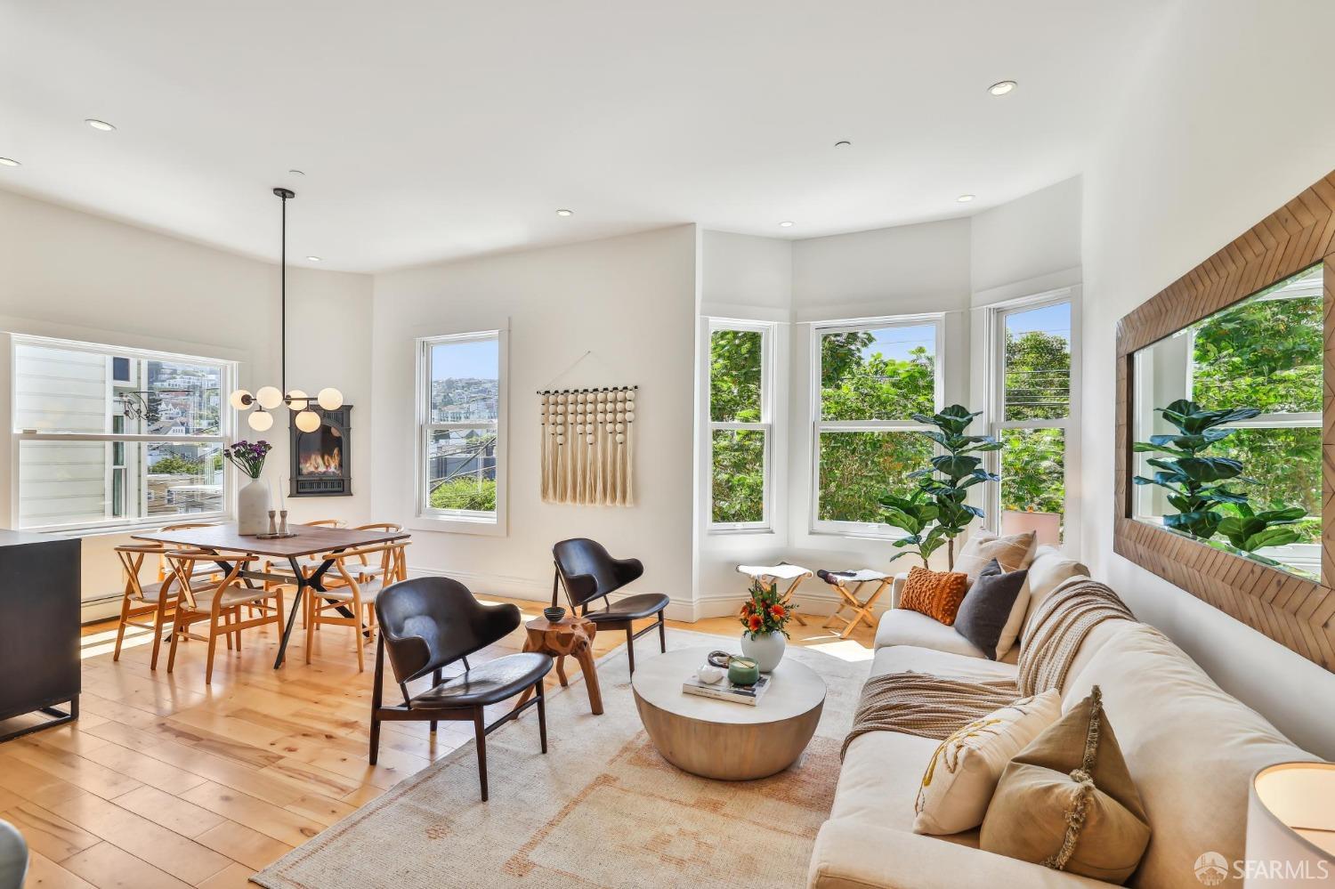
<path fill-rule="evenodd" d="M 1093 686 L 1005 768 L 979 848 L 1123 884 L 1149 845 L 1149 821 Z"/>

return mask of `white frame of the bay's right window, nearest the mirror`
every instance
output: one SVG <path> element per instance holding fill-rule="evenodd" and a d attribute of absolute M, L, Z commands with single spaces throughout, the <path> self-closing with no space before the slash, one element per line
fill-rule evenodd
<path fill-rule="evenodd" d="M 1005 419 L 1005 326 L 1007 318 L 1068 303 L 1071 306 L 1071 382 L 1067 415 L 1061 419 Z M 1003 432 L 1013 428 L 1060 428 L 1064 447 L 1063 455 L 1063 487 L 1065 501 L 1061 507 L 1061 549 L 1068 553 L 1079 553 L 1080 529 L 1080 498 L 1076 497 L 1080 479 L 1080 288 L 1077 286 L 1063 287 L 1061 290 L 1045 291 L 988 308 L 988 418 L 989 434 L 997 440 L 1003 440 Z M 988 470 L 1001 474 L 1001 451 L 993 451 L 987 461 Z M 1001 483 L 995 482 L 987 486 L 991 489 L 987 513 L 987 527 L 992 533 L 1001 531 Z"/>

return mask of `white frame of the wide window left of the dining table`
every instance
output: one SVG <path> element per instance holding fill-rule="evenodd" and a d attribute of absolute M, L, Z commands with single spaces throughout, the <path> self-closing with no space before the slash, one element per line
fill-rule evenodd
<path fill-rule="evenodd" d="M 172 362 L 172 363 L 190 363 L 190 364 L 206 364 L 211 367 L 220 368 L 220 406 L 218 411 L 218 432 L 212 435 L 172 435 L 170 432 L 152 432 L 152 434 L 138 434 L 138 432 L 39 432 L 36 430 L 21 430 L 16 426 L 11 430 L 12 447 L 11 447 L 11 515 L 13 517 L 13 523 L 19 526 L 20 507 L 20 491 L 21 483 L 20 478 L 20 461 L 23 454 L 24 442 L 104 442 L 107 444 L 115 443 L 156 443 L 156 442 L 176 442 L 180 444 L 218 444 L 226 446 L 227 442 L 232 440 L 235 424 L 236 424 L 236 411 L 228 404 L 227 395 L 236 388 L 238 368 L 236 362 L 224 360 L 219 358 L 210 358 L 206 355 L 186 355 L 182 352 L 164 352 L 147 348 L 129 348 L 124 346 L 112 346 L 108 343 L 89 343 L 73 339 L 61 339 L 53 336 L 33 336 L 28 334 L 11 334 L 9 335 L 11 348 L 9 348 L 9 403 L 11 407 L 17 403 L 17 380 L 19 380 L 19 350 L 17 346 L 35 346 L 44 348 L 59 348 L 63 351 L 77 351 L 88 355 L 99 355 L 108 362 L 108 387 L 113 387 L 111 380 L 109 362 L 115 358 L 129 358 L 134 360 L 156 360 L 156 362 Z M 124 380 L 115 380 L 124 382 Z M 109 390 L 108 390 L 109 391 Z M 105 410 L 109 412 L 111 400 L 104 403 Z M 108 414 L 109 416 L 109 414 Z M 107 481 L 108 490 L 111 490 L 111 477 L 115 474 L 116 467 L 108 463 Z M 227 521 L 235 515 L 232 509 L 236 491 L 239 486 L 236 485 L 238 473 L 231 466 L 223 467 L 223 491 L 219 502 L 222 509 L 210 510 L 204 513 L 182 513 L 179 515 L 172 514 L 159 514 L 148 517 L 108 517 L 103 521 L 95 522 L 67 522 L 67 523 L 52 523 L 52 525 L 28 525 L 19 530 L 33 534 L 101 534 L 101 533 L 119 533 L 119 531 L 134 531 L 142 529 L 155 529 L 164 523 L 170 523 L 174 519 L 190 521 Z M 146 502 L 151 502 L 151 491 L 146 493 Z M 138 511 L 138 510 L 136 510 Z"/>

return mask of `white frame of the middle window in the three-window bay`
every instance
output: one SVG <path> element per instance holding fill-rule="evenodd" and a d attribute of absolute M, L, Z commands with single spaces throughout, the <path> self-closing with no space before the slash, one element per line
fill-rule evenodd
<path fill-rule="evenodd" d="M 809 466 L 810 511 L 808 527 L 812 534 L 837 537 L 873 538 L 896 541 L 906 535 L 902 529 L 882 522 L 844 522 L 820 518 L 821 497 L 821 432 L 909 432 L 929 431 L 932 427 L 908 420 L 825 420 L 821 419 L 821 340 L 829 334 L 850 334 L 856 331 L 885 330 L 889 327 L 922 327 L 932 324 L 936 331 L 936 346 L 932 356 L 932 398 L 934 410 L 945 406 L 945 312 L 924 312 L 917 315 L 885 315 L 881 318 L 850 318 L 841 320 L 816 322 L 812 324 L 809 368 L 810 391 L 810 451 Z"/>

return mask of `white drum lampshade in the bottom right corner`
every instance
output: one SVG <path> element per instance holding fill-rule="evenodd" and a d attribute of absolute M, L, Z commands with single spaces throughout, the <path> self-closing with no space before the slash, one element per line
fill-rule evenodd
<path fill-rule="evenodd" d="M 1335 885 L 1335 764 L 1280 762 L 1247 793 L 1246 889 Z"/>

